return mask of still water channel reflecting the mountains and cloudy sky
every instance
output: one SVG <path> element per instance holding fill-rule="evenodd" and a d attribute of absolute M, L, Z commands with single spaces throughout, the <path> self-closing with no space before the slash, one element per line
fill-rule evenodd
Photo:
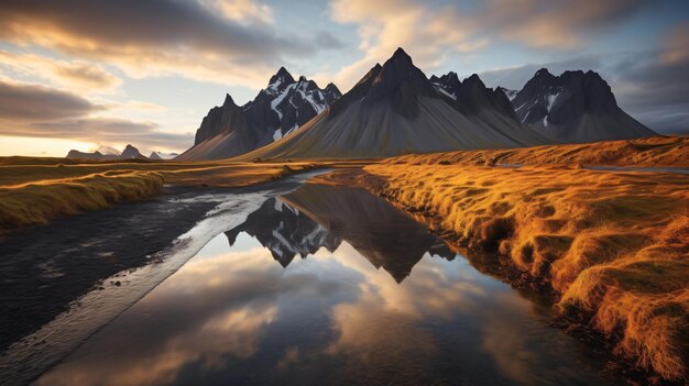
<path fill-rule="evenodd" d="M 363 190 L 307 185 L 214 239 L 37 384 L 614 384 L 537 306 L 453 257 Z"/>

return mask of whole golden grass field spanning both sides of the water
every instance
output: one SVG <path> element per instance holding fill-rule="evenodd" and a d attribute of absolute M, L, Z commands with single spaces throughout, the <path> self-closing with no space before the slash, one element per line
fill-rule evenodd
<path fill-rule="evenodd" d="M 497 167 L 522 165 L 520 168 Z M 689 167 L 689 139 L 406 155 L 383 161 L 86 162 L 0 158 L 0 235 L 149 197 L 164 184 L 239 187 L 314 167 L 359 185 L 449 241 L 557 294 L 558 309 L 668 379 L 689 363 L 689 175 L 590 165 Z"/>

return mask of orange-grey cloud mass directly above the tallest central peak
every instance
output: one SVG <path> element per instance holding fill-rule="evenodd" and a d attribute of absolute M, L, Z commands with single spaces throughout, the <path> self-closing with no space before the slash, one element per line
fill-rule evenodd
<path fill-rule="evenodd" d="M 573 48 L 590 34 L 634 14 L 643 4 L 643 0 L 489 0 L 467 8 L 458 2 L 335 0 L 330 15 L 338 23 L 359 25 L 363 57 L 335 75 L 317 77 L 332 77 L 347 88 L 398 46 L 425 70 L 441 66 L 450 55 L 475 52 L 495 41 L 537 48 Z"/>

